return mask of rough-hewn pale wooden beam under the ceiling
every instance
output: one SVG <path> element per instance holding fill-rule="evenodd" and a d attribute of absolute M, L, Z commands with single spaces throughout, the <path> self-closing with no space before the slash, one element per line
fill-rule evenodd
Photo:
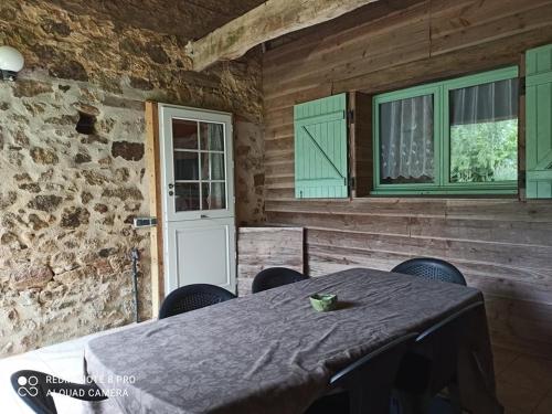
<path fill-rule="evenodd" d="M 267 0 L 206 36 L 189 42 L 194 71 L 245 54 L 263 42 L 305 29 L 378 0 Z"/>

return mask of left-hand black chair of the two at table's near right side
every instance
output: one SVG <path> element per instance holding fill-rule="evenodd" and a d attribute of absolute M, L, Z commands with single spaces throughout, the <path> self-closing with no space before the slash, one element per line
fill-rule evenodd
<path fill-rule="evenodd" d="M 418 333 L 397 338 L 358 359 L 330 379 L 330 386 L 346 390 L 349 413 L 389 413 L 391 391 L 403 355 Z"/>

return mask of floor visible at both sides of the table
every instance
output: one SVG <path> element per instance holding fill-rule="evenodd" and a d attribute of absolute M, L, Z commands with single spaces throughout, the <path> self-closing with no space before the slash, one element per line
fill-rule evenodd
<path fill-rule="evenodd" d="M 11 388 L 12 372 L 32 369 L 52 373 L 65 380 L 82 382 L 86 342 L 97 336 L 128 327 L 0 360 L 0 411 L 10 414 L 32 413 Z M 506 407 L 506 414 L 552 414 L 552 360 L 501 348 L 495 348 L 493 353 L 498 397 Z M 57 394 L 54 400 L 60 414 L 74 414 L 82 411 L 82 403 L 78 400 Z"/>

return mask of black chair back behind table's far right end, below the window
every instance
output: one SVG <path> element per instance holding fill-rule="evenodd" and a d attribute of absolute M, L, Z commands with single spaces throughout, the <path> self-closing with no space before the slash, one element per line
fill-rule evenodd
<path fill-rule="evenodd" d="M 393 267 L 391 272 L 422 276 L 432 280 L 449 282 L 466 286 L 464 275 L 450 263 L 432 257 L 411 258 Z"/>

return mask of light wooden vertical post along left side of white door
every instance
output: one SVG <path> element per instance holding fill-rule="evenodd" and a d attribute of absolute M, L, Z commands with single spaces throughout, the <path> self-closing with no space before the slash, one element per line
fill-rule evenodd
<path fill-rule="evenodd" d="M 157 217 L 150 231 L 151 312 L 156 318 L 164 298 L 161 171 L 159 158 L 159 112 L 157 103 L 146 102 L 146 170 L 149 181 L 149 212 Z"/>

